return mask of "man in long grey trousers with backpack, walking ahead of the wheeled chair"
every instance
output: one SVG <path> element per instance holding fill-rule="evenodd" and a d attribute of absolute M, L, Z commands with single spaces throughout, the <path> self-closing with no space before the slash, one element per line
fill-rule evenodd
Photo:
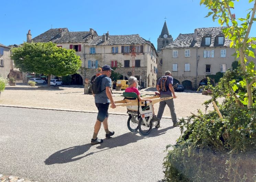
<path fill-rule="evenodd" d="M 173 84 L 173 78 L 171 77 L 171 72 L 166 71 L 165 76 L 161 77 L 158 80 L 157 86 L 156 86 L 156 89 L 160 93 L 160 98 L 166 98 L 166 97 L 170 97 L 170 96 L 173 96 L 174 99 L 177 98 L 177 96 L 174 93 L 172 84 Z M 163 116 L 166 104 L 168 105 L 170 112 L 171 112 L 171 119 L 173 122 L 173 126 L 179 126 L 179 124 L 177 123 L 177 116 L 176 116 L 175 109 L 174 109 L 173 99 L 169 99 L 169 100 L 161 101 L 159 103 L 159 109 L 158 109 L 158 113 L 157 113 L 157 118 L 159 121 L 158 121 L 157 125 L 155 126 L 156 128 L 160 127 L 160 120 Z"/>

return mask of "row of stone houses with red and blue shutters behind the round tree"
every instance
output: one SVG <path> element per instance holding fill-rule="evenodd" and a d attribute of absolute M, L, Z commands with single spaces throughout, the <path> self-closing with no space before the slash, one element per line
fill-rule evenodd
<path fill-rule="evenodd" d="M 50 29 L 32 39 L 27 33 L 27 42 L 53 42 L 58 47 L 75 49 L 82 60 L 79 73 L 72 75 L 73 84 L 84 84 L 85 78 L 95 78 L 98 66 L 108 64 L 118 67 L 116 71 L 122 78 L 129 78 L 132 73 L 131 51 L 134 46 L 135 75 L 144 87 L 155 86 L 157 72 L 157 52 L 154 45 L 136 35 L 106 35 L 98 36 L 93 29 L 85 32 L 69 32 L 67 28 Z M 26 76 L 24 76 L 25 79 Z M 120 78 L 121 79 L 121 78 Z"/>

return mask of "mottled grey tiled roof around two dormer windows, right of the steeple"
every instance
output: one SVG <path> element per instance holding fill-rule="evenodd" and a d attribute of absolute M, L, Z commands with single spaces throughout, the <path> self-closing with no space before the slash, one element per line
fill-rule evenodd
<path fill-rule="evenodd" d="M 226 27 L 210 27 L 210 28 L 197 28 L 197 40 L 194 41 L 194 33 L 192 34 L 179 34 L 179 36 L 164 48 L 180 48 L 180 47 L 216 47 L 216 46 L 230 46 L 231 41 L 224 37 L 224 44 L 218 45 L 217 37 L 224 35 L 222 30 Z M 211 37 L 211 44 L 205 45 L 204 37 Z"/>

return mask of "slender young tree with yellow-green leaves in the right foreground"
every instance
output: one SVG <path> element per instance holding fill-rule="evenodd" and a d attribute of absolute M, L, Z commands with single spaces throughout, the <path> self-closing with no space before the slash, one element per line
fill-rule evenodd
<path fill-rule="evenodd" d="M 256 0 L 249 0 L 249 3 L 254 2 L 253 8 L 248 10 L 245 18 L 236 19 L 235 14 L 232 14 L 235 0 L 201 0 L 200 5 L 204 4 L 210 12 L 206 17 L 212 15 L 212 19 L 219 21 L 222 26 L 226 24 L 227 28 L 223 30 L 226 37 L 231 40 L 230 47 L 235 48 L 235 56 L 238 59 L 239 67 L 241 71 L 241 77 L 246 84 L 246 96 L 243 100 L 247 103 L 248 107 L 252 107 L 253 103 L 253 88 L 256 86 L 256 71 L 253 61 L 248 61 L 249 57 L 255 58 L 254 52 L 251 49 L 255 49 L 256 45 L 253 41 L 256 41 L 255 37 L 249 37 L 253 22 L 256 20 Z M 239 1 L 239 0 L 236 0 Z M 244 2 L 243 2 L 244 3 Z M 238 24 L 240 23 L 240 24 Z"/>

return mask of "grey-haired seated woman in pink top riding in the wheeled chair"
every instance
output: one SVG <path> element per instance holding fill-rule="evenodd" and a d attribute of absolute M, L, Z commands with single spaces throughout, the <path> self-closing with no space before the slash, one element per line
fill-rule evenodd
<path fill-rule="evenodd" d="M 140 92 L 138 91 L 138 89 L 136 88 L 137 85 L 137 78 L 136 77 L 130 77 L 128 79 L 128 85 L 129 87 L 125 90 L 125 92 L 135 92 L 138 96 L 138 100 L 139 101 L 150 101 L 152 102 L 151 99 L 143 99 L 140 96 Z M 152 110 L 153 110 L 153 117 L 152 117 L 152 121 L 158 121 L 156 115 L 155 115 L 155 111 L 154 111 L 154 106 L 152 105 Z"/>

